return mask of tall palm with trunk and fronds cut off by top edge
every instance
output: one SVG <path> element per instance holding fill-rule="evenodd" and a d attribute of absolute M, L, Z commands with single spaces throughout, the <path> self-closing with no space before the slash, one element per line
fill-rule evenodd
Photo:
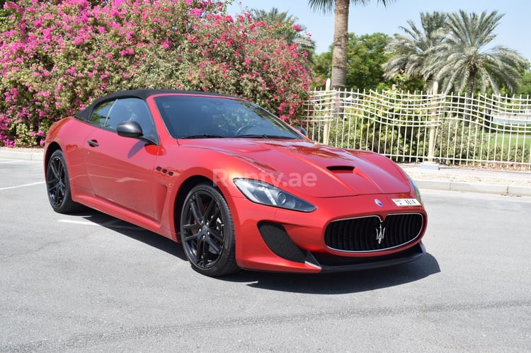
<path fill-rule="evenodd" d="M 386 6 L 394 0 L 377 0 Z M 332 50 L 332 88 L 346 87 L 348 8 L 352 4 L 368 4 L 370 0 L 308 0 L 310 8 L 324 13 L 334 11 L 333 50 Z"/>

